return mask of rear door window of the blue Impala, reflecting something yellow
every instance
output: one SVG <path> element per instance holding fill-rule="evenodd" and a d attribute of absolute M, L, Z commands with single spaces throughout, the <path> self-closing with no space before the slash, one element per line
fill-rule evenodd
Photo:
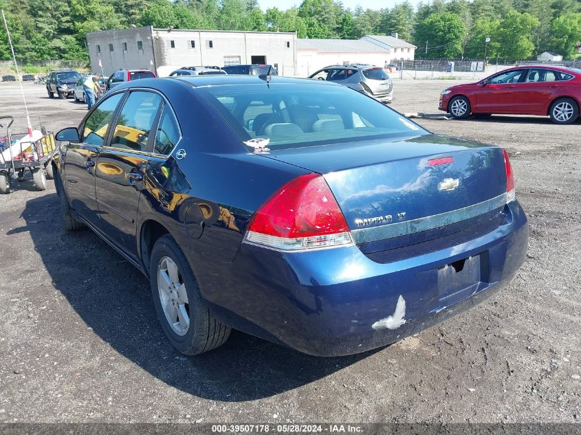
<path fill-rule="evenodd" d="M 119 112 L 110 146 L 147 151 L 149 134 L 162 102 L 162 97 L 157 93 L 131 92 Z"/>

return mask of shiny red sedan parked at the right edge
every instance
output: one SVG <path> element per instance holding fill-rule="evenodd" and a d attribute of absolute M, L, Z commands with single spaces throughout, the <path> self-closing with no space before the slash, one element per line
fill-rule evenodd
<path fill-rule="evenodd" d="M 530 66 L 444 89 L 439 109 L 457 119 L 468 118 L 470 113 L 549 115 L 556 124 L 571 124 L 580 106 L 581 69 Z"/>

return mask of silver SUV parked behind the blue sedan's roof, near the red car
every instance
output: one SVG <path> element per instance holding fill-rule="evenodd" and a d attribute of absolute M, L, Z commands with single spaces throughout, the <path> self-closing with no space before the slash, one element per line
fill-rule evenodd
<path fill-rule="evenodd" d="M 366 93 L 381 102 L 393 101 L 391 78 L 384 69 L 375 65 L 329 65 L 311 74 L 309 78 L 337 82 L 355 91 Z"/>

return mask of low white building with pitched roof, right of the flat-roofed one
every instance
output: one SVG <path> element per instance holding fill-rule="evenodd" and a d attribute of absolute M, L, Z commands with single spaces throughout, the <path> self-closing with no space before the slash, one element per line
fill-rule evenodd
<path fill-rule="evenodd" d="M 398 60 L 413 60 L 415 45 L 395 36 L 366 35 L 360 39 L 297 39 L 298 75 L 313 74 L 329 65 L 369 63 L 384 67 Z"/>

